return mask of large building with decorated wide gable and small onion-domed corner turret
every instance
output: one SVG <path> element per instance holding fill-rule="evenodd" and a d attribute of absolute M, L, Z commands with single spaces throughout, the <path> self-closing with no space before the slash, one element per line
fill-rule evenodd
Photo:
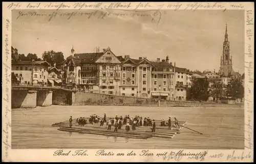
<path fill-rule="evenodd" d="M 74 52 L 74 49 L 71 51 Z M 110 47 L 103 49 L 103 52 L 76 53 L 67 58 L 65 64 L 68 63 L 75 70 L 69 78 L 72 85 L 94 93 L 119 94 L 121 62 Z"/>

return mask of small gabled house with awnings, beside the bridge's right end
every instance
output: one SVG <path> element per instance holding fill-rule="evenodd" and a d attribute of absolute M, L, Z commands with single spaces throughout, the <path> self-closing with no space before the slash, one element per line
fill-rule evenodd
<path fill-rule="evenodd" d="M 49 86 L 61 86 L 63 71 L 56 68 L 56 64 L 53 67 L 48 68 L 48 85 Z"/>

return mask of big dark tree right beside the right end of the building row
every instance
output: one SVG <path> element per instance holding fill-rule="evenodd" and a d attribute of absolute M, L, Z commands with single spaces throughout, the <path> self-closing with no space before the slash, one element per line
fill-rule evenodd
<path fill-rule="evenodd" d="M 198 78 L 189 89 L 188 99 L 207 100 L 209 83 L 206 78 Z"/>

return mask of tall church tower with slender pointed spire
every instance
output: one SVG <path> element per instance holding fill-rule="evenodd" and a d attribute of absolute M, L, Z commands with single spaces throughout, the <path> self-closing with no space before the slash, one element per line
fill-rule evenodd
<path fill-rule="evenodd" d="M 221 56 L 221 67 L 219 70 L 219 74 L 220 76 L 230 77 L 232 72 L 233 72 L 232 57 L 230 56 L 230 48 L 229 48 L 227 24 L 226 24 L 226 33 L 225 33 L 225 40 L 223 42 L 223 52 Z"/>

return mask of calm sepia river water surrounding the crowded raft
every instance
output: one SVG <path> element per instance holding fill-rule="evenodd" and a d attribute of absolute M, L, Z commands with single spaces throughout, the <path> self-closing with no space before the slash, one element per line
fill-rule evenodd
<path fill-rule="evenodd" d="M 69 133 L 53 123 L 92 114 L 103 117 L 139 115 L 186 121 L 173 139 L 147 140 Z M 157 130 L 157 129 L 156 129 Z M 244 149 L 244 108 L 232 107 L 150 107 L 150 106 L 48 106 L 12 109 L 12 149 Z"/>

